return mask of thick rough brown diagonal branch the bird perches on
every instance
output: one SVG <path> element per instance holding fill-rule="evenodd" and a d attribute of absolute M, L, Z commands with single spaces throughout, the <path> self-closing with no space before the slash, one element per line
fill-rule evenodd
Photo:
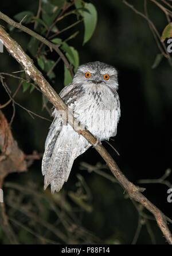
<path fill-rule="evenodd" d="M 17 42 L 15 42 L 9 34 L 0 26 L 0 39 L 3 42 L 4 46 L 7 48 L 7 51 L 20 63 L 20 65 L 24 68 L 26 74 L 30 78 L 32 78 L 38 86 L 40 86 L 42 93 L 49 99 L 49 101 L 57 108 L 57 110 L 64 110 L 68 115 L 69 125 L 73 127 L 73 122 L 78 124 L 76 119 L 71 113 L 68 113 L 68 107 L 64 103 L 64 101 L 57 95 L 52 86 L 45 80 L 42 76 L 41 72 L 34 66 L 32 59 L 29 58 L 28 55 L 22 50 L 21 46 Z M 79 124 L 78 124 L 79 126 Z M 73 128 L 74 129 L 74 128 Z M 77 133 L 83 135 L 90 144 L 95 145 L 97 140 L 93 137 L 89 131 L 85 130 L 76 130 Z M 110 154 L 105 150 L 102 145 L 97 145 L 95 147 L 97 152 L 103 157 L 108 167 L 110 168 L 112 174 L 114 174 L 115 178 L 119 181 L 120 185 L 124 187 L 124 189 L 128 192 L 130 197 L 135 201 L 142 204 L 147 210 L 154 214 L 155 219 L 159 225 L 159 228 L 163 232 L 168 243 L 172 244 L 172 236 L 167 227 L 167 218 L 166 216 L 159 210 L 155 205 L 153 205 L 140 191 L 139 187 L 135 186 L 131 183 L 126 176 L 120 171 L 118 165 L 115 163 L 114 159 L 110 156 Z"/>

